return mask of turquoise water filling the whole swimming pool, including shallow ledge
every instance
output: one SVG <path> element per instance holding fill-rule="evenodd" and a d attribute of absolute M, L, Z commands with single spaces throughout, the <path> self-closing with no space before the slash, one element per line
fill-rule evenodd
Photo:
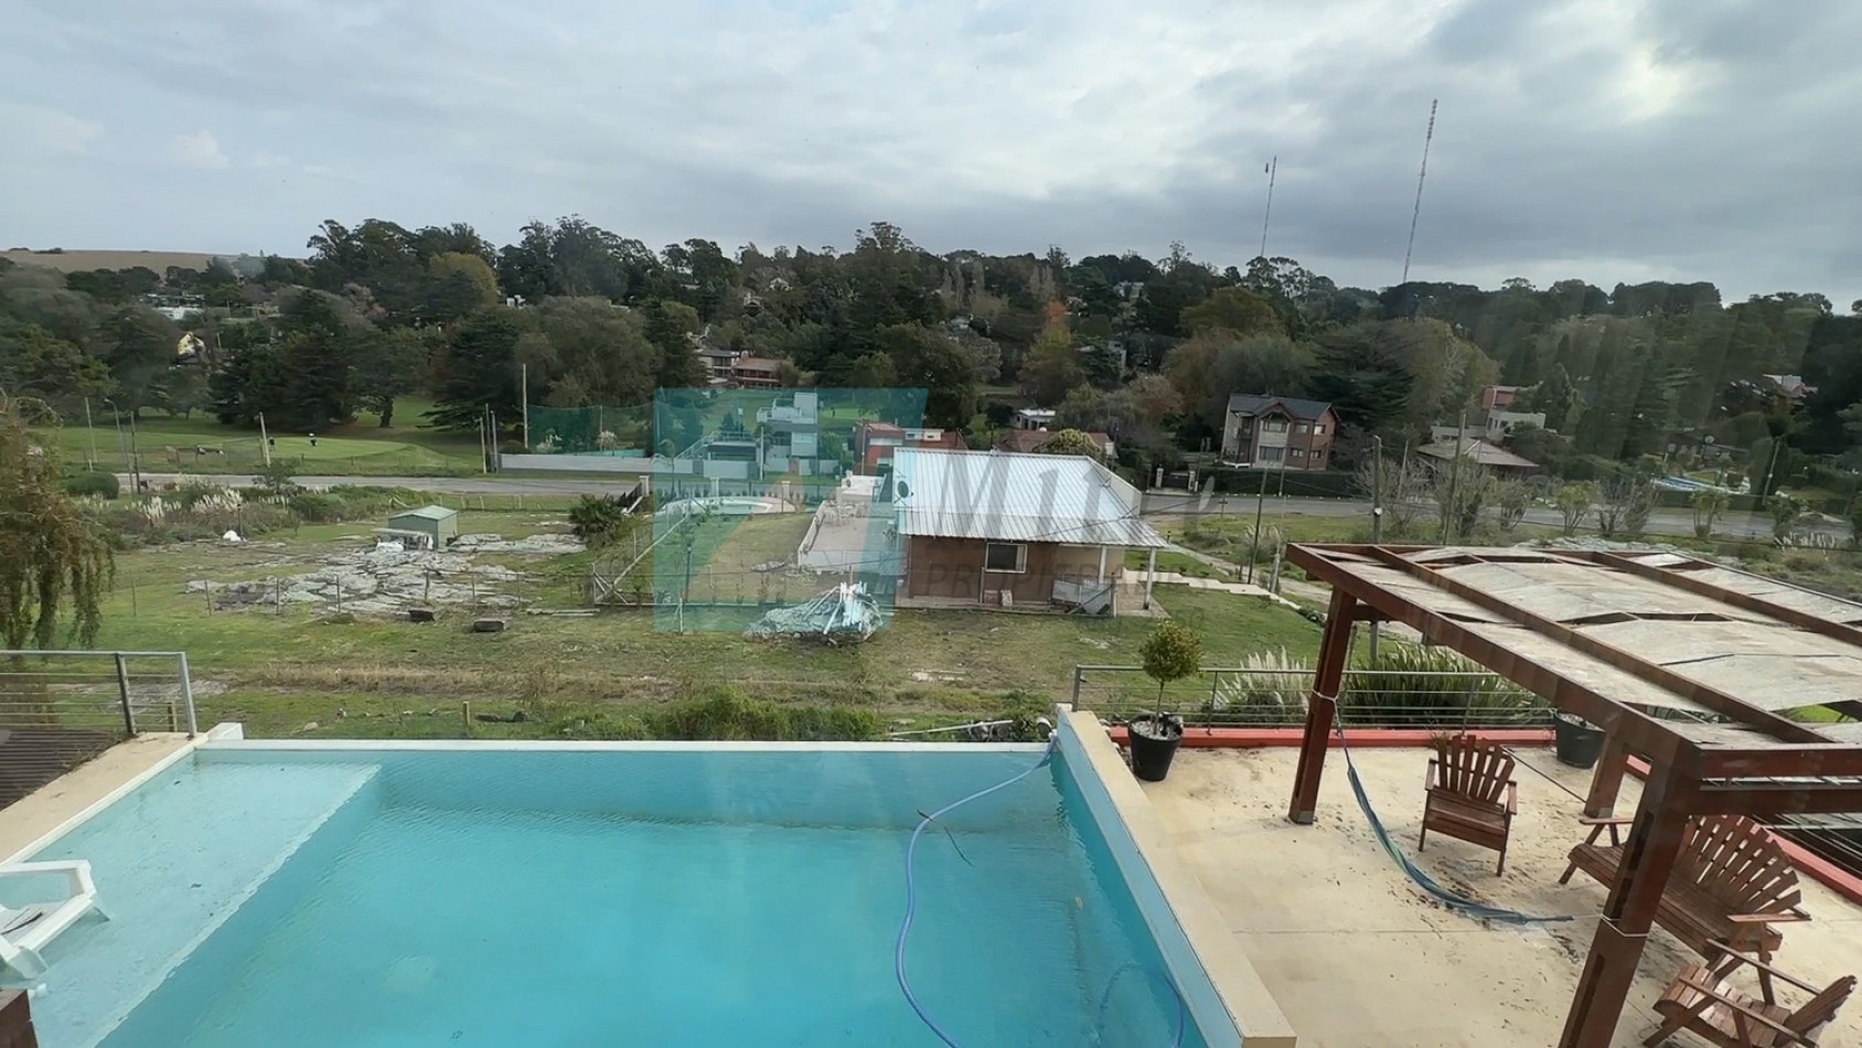
<path fill-rule="evenodd" d="M 39 853 L 114 918 L 41 1042 L 938 1044 L 907 840 L 1039 756 L 209 748 Z M 1207 1044 L 1063 759 L 940 823 L 907 957 L 959 1042 Z"/>

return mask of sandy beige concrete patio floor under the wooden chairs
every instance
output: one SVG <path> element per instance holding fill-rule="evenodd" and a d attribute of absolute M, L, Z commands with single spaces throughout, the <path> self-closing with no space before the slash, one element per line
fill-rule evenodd
<path fill-rule="evenodd" d="M 1203 882 L 1231 934 L 1253 961 L 1300 1044 L 1313 1048 L 1424 1048 L 1555 1044 L 1607 892 L 1583 873 L 1558 884 L 1564 856 L 1583 840 L 1577 791 L 1588 773 L 1521 750 L 1519 815 L 1506 875 L 1491 851 L 1432 836 L 1417 854 L 1426 750 L 1354 752 L 1372 806 L 1404 851 L 1436 880 L 1469 897 L 1529 914 L 1573 914 L 1564 923 L 1482 927 L 1410 886 L 1359 813 L 1333 746 L 1313 826 L 1287 823 L 1298 750 L 1182 750 L 1169 780 L 1145 784 L 1177 858 Z M 1534 774 L 1536 771 L 1545 776 Z M 1618 815 L 1635 808 L 1624 784 Z M 1804 877 L 1810 923 L 1789 925 L 1776 957 L 1806 983 L 1862 974 L 1862 908 Z M 1653 1000 L 1694 955 L 1655 929 L 1616 1042 L 1655 1029 Z M 1784 996 L 1780 1003 L 1801 1003 Z M 1689 1035 L 1678 1046 L 1704 1044 Z M 1862 1005 L 1851 1001 L 1827 1046 L 1862 1046 Z"/>

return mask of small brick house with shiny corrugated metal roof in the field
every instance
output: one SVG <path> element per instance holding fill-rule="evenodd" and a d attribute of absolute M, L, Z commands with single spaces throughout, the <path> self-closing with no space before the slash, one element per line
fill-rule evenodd
<path fill-rule="evenodd" d="M 1069 607 L 1115 612 L 1127 549 L 1164 536 L 1136 488 L 1078 454 L 894 450 L 901 605 Z M 1143 605 L 1151 605 L 1149 575 Z"/>

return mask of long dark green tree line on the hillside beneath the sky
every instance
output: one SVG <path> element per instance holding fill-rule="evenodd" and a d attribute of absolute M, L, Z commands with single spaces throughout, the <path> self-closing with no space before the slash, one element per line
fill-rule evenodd
<path fill-rule="evenodd" d="M 655 251 L 577 216 L 501 248 L 467 223 L 326 222 L 305 248 L 201 272 L 0 268 L 0 385 L 61 410 L 110 398 L 281 430 L 359 410 L 391 424 L 397 400 L 423 395 L 428 423 L 471 428 L 486 408 L 516 423 L 525 393 L 575 408 L 702 385 L 709 346 L 775 359 L 791 383 L 925 387 L 940 426 L 987 426 L 1002 408 L 979 413 L 983 393 L 1019 395 L 1145 465 L 1218 445 L 1231 393 L 1333 402 L 1344 467 L 1372 436 L 1426 439 L 1490 383 L 1525 387 L 1523 408 L 1562 434 L 1519 437 L 1555 467 L 1707 437 L 1840 454 L 1862 434 L 1862 303 L 1840 315 L 1806 292 L 1372 290 L 1285 257 L 1218 268 L 1181 244 L 1162 259 L 935 255 L 884 222 L 845 251 Z M 175 322 L 164 302 L 194 311 Z M 1815 393 L 1780 396 L 1778 374 Z"/>

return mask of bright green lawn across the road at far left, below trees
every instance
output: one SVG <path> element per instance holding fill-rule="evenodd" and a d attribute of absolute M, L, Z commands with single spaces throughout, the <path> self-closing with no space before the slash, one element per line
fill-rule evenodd
<path fill-rule="evenodd" d="M 421 426 L 421 413 L 432 408 L 426 400 L 395 404 L 395 424 L 382 428 L 378 419 L 359 413 L 354 423 L 317 434 L 311 445 L 307 434 L 272 432 L 272 456 L 290 458 L 305 475 L 372 475 L 372 477 L 449 477 L 479 473 L 479 437 L 449 434 Z M 91 428 L 84 419 L 73 419 L 56 434 L 60 452 L 69 464 L 91 458 L 102 469 L 128 471 L 128 421 L 121 436 L 112 415 L 93 406 Z M 264 460 L 257 430 L 223 426 L 210 415 L 171 419 L 143 413 L 136 421 L 136 449 L 147 473 L 255 473 Z M 203 449 L 203 450 L 197 450 Z"/>

